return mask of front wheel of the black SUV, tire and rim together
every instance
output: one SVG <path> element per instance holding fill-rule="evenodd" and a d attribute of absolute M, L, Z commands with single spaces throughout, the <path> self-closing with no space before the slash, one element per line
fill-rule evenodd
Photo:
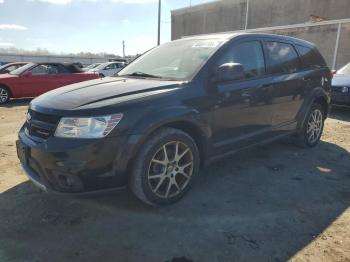
<path fill-rule="evenodd" d="M 162 128 L 142 146 L 134 162 L 129 187 L 141 201 L 167 205 L 189 190 L 199 170 L 194 140 L 181 130 Z"/>

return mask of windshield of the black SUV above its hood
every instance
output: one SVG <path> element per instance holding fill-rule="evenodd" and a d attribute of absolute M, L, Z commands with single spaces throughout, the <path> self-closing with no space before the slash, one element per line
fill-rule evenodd
<path fill-rule="evenodd" d="M 147 52 L 118 73 L 186 80 L 202 67 L 218 49 L 220 39 L 182 39 L 163 44 Z"/>

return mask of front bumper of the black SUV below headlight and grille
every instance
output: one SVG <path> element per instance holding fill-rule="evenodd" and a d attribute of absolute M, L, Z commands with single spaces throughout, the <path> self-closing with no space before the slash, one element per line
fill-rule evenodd
<path fill-rule="evenodd" d="M 123 188 L 133 145 L 128 137 L 37 141 L 22 128 L 17 153 L 22 168 L 45 191 L 89 193 Z"/>

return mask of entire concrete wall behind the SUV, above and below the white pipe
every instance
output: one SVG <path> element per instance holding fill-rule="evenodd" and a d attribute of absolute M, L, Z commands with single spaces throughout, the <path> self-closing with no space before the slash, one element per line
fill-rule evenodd
<path fill-rule="evenodd" d="M 244 30 L 248 0 L 219 0 L 172 11 L 172 39 Z M 247 29 L 350 18 L 350 0 L 249 0 Z M 332 68 L 338 25 L 265 31 L 315 43 Z M 260 31 L 263 32 L 263 31 Z M 342 24 L 335 69 L 350 61 L 350 23 Z"/>

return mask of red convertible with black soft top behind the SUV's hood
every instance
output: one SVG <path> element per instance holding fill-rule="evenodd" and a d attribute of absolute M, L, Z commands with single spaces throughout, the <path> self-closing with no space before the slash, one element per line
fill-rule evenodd
<path fill-rule="evenodd" d="M 29 63 L 9 74 L 0 75 L 0 104 L 10 98 L 36 97 L 52 89 L 99 78 L 74 64 Z"/>

